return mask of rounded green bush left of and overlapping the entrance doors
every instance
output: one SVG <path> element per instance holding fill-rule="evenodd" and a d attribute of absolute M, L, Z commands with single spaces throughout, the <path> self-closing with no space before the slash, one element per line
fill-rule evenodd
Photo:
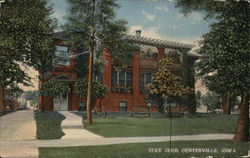
<path fill-rule="evenodd" d="M 66 82 L 50 79 L 45 82 L 40 90 L 40 95 L 44 96 L 58 96 L 70 92 L 70 87 Z"/>

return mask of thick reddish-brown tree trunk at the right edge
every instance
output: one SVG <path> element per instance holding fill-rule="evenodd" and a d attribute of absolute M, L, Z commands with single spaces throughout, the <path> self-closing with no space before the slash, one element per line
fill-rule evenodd
<path fill-rule="evenodd" d="M 249 140 L 249 94 L 244 94 L 241 97 L 238 123 L 233 139 L 235 141 Z"/>

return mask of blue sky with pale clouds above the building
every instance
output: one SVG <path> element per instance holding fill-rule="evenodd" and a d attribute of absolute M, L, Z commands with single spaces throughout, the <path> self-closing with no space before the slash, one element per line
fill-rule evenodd
<path fill-rule="evenodd" d="M 54 4 L 55 16 L 63 24 L 67 14 L 66 0 L 50 0 Z M 184 17 L 173 0 L 117 0 L 120 8 L 117 18 L 128 22 L 128 34 L 135 35 L 137 29 L 141 36 L 185 43 L 196 43 L 202 34 L 209 31 L 209 22 L 198 12 Z"/>

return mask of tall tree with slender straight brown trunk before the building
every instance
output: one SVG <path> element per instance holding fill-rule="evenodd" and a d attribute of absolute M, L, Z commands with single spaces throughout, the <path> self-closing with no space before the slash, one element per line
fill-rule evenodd
<path fill-rule="evenodd" d="M 91 94 L 94 56 L 101 55 L 103 49 L 111 53 L 115 63 L 124 61 L 125 56 L 133 54 L 134 46 L 123 39 L 126 32 L 123 20 L 115 19 L 114 10 L 118 7 L 114 0 L 67 0 L 69 14 L 64 25 L 67 36 L 77 53 L 88 50 L 88 96 L 87 117 L 92 124 Z"/>

